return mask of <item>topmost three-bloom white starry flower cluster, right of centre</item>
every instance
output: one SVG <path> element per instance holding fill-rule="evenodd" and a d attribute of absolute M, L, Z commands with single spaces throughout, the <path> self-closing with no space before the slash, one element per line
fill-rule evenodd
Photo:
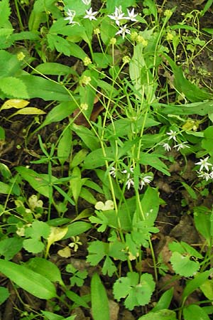
<path fill-rule="evenodd" d="M 124 12 L 122 12 L 122 7 L 119 6 L 119 8 L 115 7 L 115 11 L 113 14 L 109 14 L 109 18 L 111 18 L 111 20 L 114 20 L 116 25 L 120 27 L 119 31 L 116 32 L 116 35 L 121 34 L 122 38 L 124 39 L 126 34 L 130 34 L 130 30 L 127 28 L 127 24 L 125 24 L 124 26 L 121 25 L 121 21 L 123 20 L 129 20 L 129 21 L 137 21 L 136 20 L 136 16 L 138 16 L 138 14 L 135 14 L 134 12 L 135 9 L 131 9 L 131 11 L 129 9 L 127 9 L 127 13 L 128 16 L 124 16 Z"/>

